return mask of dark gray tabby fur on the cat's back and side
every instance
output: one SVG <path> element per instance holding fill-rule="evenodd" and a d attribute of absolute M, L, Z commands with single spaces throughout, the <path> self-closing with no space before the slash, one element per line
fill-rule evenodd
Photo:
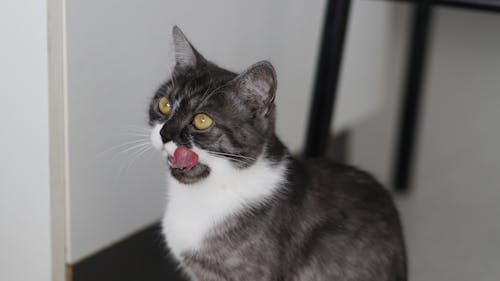
<path fill-rule="evenodd" d="M 183 254 L 199 280 L 406 280 L 398 215 L 373 178 L 322 160 L 290 168 L 284 188 L 297 190 L 228 219 L 203 250 Z"/>

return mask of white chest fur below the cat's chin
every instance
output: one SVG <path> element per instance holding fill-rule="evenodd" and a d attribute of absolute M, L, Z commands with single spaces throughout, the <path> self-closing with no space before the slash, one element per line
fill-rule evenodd
<path fill-rule="evenodd" d="M 200 247 L 224 218 L 271 196 L 285 176 L 284 164 L 272 166 L 259 159 L 249 168 L 237 169 L 225 159 L 197 153 L 211 167 L 206 179 L 185 185 L 168 177 L 163 232 L 178 259 L 182 252 Z"/>

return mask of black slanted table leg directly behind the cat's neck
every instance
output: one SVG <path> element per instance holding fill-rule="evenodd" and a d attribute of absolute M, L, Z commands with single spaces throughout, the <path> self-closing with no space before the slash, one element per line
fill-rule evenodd
<path fill-rule="evenodd" d="M 324 154 L 330 133 L 350 0 L 330 0 L 325 14 L 304 155 Z"/>

